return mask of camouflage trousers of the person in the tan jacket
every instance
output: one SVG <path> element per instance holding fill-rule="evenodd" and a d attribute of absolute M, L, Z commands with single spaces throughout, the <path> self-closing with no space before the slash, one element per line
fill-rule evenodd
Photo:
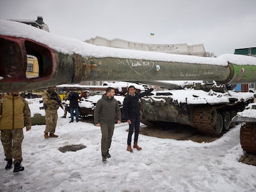
<path fill-rule="evenodd" d="M 22 162 L 22 141 L 23 128 L 15 128 L 12 130 L 1 130 L 2 147 L 4 148 L 4 155 L 7 159 L 14 158 L 16 162 Z"/>

